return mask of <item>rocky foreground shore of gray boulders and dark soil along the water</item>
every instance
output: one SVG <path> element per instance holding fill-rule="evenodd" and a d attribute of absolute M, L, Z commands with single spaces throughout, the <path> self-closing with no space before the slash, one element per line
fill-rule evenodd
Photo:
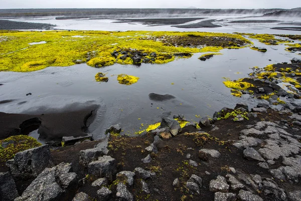
<path fill-rule="evenodd" d="M 282 65 L 294 67 L 289 73 L 299 76 L 298 61 Z M 254 71 L 257 77 L 262 73 Z M 257 77 L 249 82 L 256 84 Z M 275 96 L 262 99 L 256 108 L 240 103 L 184 127 L 184 115 L 164 117 L 158 128 L 139 137 L 122 135 L 115 125 L 102 141 L 69 137 L 62 147 L 19 152 L 6 162 L 9 169 L 1 167 L 0 198 L 300 200 L 299 92 L 284 93 L 274 80 L 266 75 L 257 80 L 263 85 L 252 86 L 257 98 Z M 280 96 L 286 103 L 277 100 Z"/>

